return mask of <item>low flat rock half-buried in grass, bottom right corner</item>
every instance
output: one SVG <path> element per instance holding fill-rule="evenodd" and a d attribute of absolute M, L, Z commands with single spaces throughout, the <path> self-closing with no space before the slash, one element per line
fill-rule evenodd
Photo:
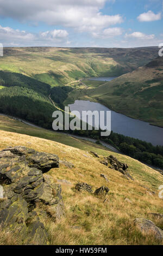
<path fill-rule="evenodd" d="M 143 235 L 153 235 L 155 239 L 163 240 L 163 230 L 156 227 L 152 221 L 144 218 L 137 218 L 134 219 L 134 224 Z"/>

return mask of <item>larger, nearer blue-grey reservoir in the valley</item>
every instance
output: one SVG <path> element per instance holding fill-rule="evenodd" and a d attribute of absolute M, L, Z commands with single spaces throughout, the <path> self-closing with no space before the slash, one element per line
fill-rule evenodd
<path fill-rule="evenodd" d="M 83 110 L 110 110 L 106 106 L 90 102 L 89 100 L 76 100 L 74 104 L 70 104 L 69 106 L 71 111 L 78 110 L 80 115 Z M 118 114 L 115 111 L 111 111 L 111 130 L 115 133 L 151 142 L 154 146 L 163 145 L 163 128 L 151 126 L 147 122 Z"/>

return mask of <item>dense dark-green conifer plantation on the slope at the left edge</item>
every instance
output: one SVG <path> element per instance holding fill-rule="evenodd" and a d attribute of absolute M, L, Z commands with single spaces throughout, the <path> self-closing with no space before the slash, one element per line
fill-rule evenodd
<path fill-rule="evenodd" d="M 45 127 L 52 127 L 52 113 L 56 110 L 46 96 L 26 87 L 0 90 L 0 112 L 20 117 Z"/>

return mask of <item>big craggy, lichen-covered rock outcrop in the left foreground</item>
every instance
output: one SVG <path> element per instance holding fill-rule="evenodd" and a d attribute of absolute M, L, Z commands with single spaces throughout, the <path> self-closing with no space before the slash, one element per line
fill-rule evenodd
<path fill-rule="evenodd" d="M 38 207 L 53 220 L 64 215 L 60 184 L 45 174 L 59 167 L 55 154 L 27 147 L 8 147 L 0 152 L 0 224 L 19 229 L 23 244 L 48 244 Z M 51 212 L 51 214 L 49 214 Z"/>

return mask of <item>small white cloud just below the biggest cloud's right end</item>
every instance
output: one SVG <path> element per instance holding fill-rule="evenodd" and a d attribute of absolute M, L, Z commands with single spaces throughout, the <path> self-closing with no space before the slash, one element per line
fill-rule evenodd
<path fill-rule="evenodd" d="M 115 37 L 117 35 L 121 35 L 122 34 L 122 28 L 120 27 L 112 27 L 112 28 L 106 28 L 104 29 L 102 32 L 93 32 L 92 35 L 93 37 L 96 38 L 111 38 L 111 37 Z"/>

